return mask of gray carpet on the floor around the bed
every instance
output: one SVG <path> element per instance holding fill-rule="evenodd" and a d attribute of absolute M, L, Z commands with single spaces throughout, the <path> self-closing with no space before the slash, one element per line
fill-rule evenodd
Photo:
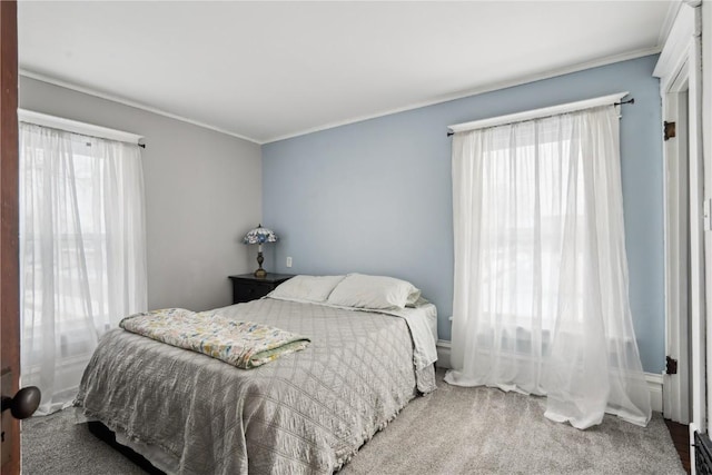
<path fill-rule="evenodd" d="M 442 382 L 414 399 L 340 474 L 684 474 L 665 423 L 606 416 L 587 431 L 544 418 L 544 399 Z M 22 473 L 140 474 L 69 410 L 22 425 Z"/>

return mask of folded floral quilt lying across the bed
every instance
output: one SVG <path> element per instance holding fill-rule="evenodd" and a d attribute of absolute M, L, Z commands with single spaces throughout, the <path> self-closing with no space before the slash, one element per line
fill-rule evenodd
<path fill-rule="evenodd" d="M 309 338 L 216 311 L 165 308 L 131 315 L 119 326 L 179 348 L 202 353 L 243 369 L 304 349 Z"/>

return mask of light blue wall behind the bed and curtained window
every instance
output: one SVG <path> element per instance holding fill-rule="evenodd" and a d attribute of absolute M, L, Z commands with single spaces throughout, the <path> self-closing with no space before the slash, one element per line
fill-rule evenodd
<path fill-rule="evenodd" d="M 621 156 L 630 297 L 646 372 L 664 362 L 663 181 L 656 56 L 308 133 L 263 146 L 263 217 L 280 234 L 268 269 L 411 280 L 449 339 L 453 298 L 447 126 L 630 91 Z M 348 93 L 348 91 L 344 91 Z M 287 269 L 287 256 L 294 266 Z"/>

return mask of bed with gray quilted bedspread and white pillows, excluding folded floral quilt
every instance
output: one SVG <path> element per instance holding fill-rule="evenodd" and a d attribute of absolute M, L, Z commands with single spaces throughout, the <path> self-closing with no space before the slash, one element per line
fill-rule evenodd
<path fill-rule="evenodd" d="M 263 299 L 214 310 L 310 339 L 253 369 L 110 330 L 85 372 L 80 418 L 166 473 L 338 471 L 435 389 L 435 307 L 388 279 L 297 276 Z"/>

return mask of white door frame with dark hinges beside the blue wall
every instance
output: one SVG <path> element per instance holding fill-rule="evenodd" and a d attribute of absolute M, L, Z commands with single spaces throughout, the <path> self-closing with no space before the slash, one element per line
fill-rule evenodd
<path fill-rule="evenodd" d="M 695 431 L 706 432 L 708 398 L 712 396 L 706 385 L 712 389 L 712 380 L 706 378 L 708 352 L 712 350 L 712 345 L 706 347 L 705 337 L 712 328 L 706 328 L 705 308 L 705 258 L 709 259 L 712 253 L 706 253 L 704 235 L 704 207 L 705 199 L 704 182 L 705 167 L 702 157 L 702 41 L 701 41 L 701 1 L 684 2 L 678 12 L 673 27 L 670 31 L 665 46 L 660 56 L 653 76 L 660 78 L 660 90 L 663 99 L 663 117 L 678 120 L 684 113 L 685 90 L 688 103 L 686 131 L 678 131 L 675 142 L 666 144 L 663 148 L 665 161 L 665 319 L 666 319 L 666 350 L 678 352 L 679 369 L 690 369 L 691 380 L 684 384 L 683 377 L 665 376 L 663 379 L 664 403 L 671 405 L 664 408 L 664 413 L 674 417 L 684 416 L 684 402 L 692 400 L 692 414 L 688 413 L 690 423 L 690 437 Z M 682 117 L 684 118 L 684 116 Z M 662 126 L 662 125 L 661 125 Z M 684 127 L 683 127 L 684 129 Z M 686 132 L 685 137 L 682 133 Z M 685 150 L 686 149 L 686 150 Z M 690 279 L 688 288 L 684 286 L 686 278 L 686 265 L 680 260 L 680 239 L 684 239 L 682 234 L 678 235 L 672 226 L 679 226 L 682 192 L 679 174 L 683 171 L 679 155 L 684 154 L 688 160 L 689 177 L 689 235 L 686 237 L 690 256 Z M 673 161 L 674 160 L 674 161 Z M 709 168 L 709 167 L 708 167 Z M 678 174 L 678 175 L 676 175 Z M 708 226 L 709 228 L 709 226 Z M 676 241 L 675 241 L 676 239 Z M 711 241 L 712 243 L 712 241 Z M 708 248 L 710 249 L 710 248 Z M 712 267 L 710 267 L 712 269 Z M 682 276 L 685 276 L 683 278 Z M 712 280 L 712 279 L 710 279 Z M 675 295 L 676 293 L 676 295 Z M 689 296 L 689 297 L 688 297 Z M 689 298 L 689 307 L 683 303 Z M 689 315 L 689 320 L 688 320 Z M 688 339 L 689 342 L 685 342 Z M 688 347 L 690 348 L 690 359 L 688 360 Z M 684 360 L 684 364 L 682 363 Z M 688 366 L 689 365 L 689 366 Z M 691 397 L 688 396 L 688 390 Z M 691 447 L 691 462 L 694 473 L 694 447 Z"/>

